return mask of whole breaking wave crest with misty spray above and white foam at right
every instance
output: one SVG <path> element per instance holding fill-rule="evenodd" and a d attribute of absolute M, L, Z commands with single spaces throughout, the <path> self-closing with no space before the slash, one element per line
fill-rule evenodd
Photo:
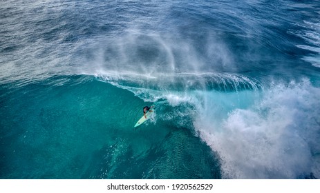
<path fill-rule="evenodd" d="M 137 42 L 143 36 L 123 45 L 107 46 L 106 55 L 99 57 L 102 63 L 88 74 L 129 90 L 144 101 L 165 100 L 182 111 L 175 111 L 176 115 L 158 113 L 157 119 L 180 120 L 171 123 L 178 127 L 189 125 L 198 131 L 218 152 L 224 178 L 292 179 L 310 173 L 319 176 L 316 155 L 320 147 L 316 141 L 320 137 L 320 90 L 308 79 L 261 82 L 232 72 L 236 69 L 223 57 L 207 58 L 210 62 L 205 65 L 203 56 L 186 41 L 176 46 L 160 36 L 147 35 L 142 41 L 144 50 L 140 50 Z M 110 50 L 124 59 L 110 59 Z M 226 54 L 221 51 L 216 56 Z M 153 59 L 146 60 L 150 56 Z M 223 72 L 223 63 L 229 65 L 231 72 Z M 191 119 L 192 124 L 183 119 Z"/>

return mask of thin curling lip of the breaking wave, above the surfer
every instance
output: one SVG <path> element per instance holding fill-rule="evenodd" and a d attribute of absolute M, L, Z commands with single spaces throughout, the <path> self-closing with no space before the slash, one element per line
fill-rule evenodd
<path fill-rule="evenodd" d="M 158 91 L 216 90 L 234 92 L 260 90 L 262 84 L 256 79 L 232 73 L 175 73 L 136 74 L 134 72 L 107 72 L 95 77 L 113 85 L 129 88 L 147 88 Z"/>

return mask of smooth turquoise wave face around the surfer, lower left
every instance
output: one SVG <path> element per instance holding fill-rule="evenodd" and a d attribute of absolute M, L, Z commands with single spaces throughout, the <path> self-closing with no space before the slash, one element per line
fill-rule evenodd
<path fill-rule="evenodd" d="M 192 130 L 156 119 L 133 128 L 146 103 L 93 77 L 53 77 L 1 99 L 4 178 L 220 177 L 216 156 Z"/>

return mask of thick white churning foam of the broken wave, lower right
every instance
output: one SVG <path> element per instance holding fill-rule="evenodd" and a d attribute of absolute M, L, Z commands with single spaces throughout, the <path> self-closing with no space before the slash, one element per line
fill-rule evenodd
<path fill-rule="evenodd" d="M 310 81 L 292 82 L 223 112 L 211 92 L 194 125 L 220 154 L 225 178 L 296 179 L 310 173 L 319 178 L 319 94 Z"/>

